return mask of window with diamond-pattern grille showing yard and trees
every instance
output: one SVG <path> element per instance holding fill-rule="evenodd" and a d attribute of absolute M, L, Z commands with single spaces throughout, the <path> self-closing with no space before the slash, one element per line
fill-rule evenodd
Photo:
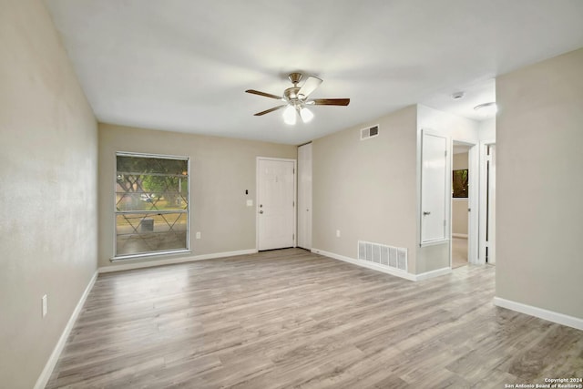
<path fill-rule="evenodd" d="M 189 250 L 189 159 L 117 154 L 115 257 Z"/>

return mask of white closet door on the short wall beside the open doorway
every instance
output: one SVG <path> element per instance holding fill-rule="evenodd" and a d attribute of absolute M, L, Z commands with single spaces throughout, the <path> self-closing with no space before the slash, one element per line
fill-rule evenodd
<path fill-rule="evenodd" d="M 449 138 L 423 130 L 421 143 L 421 243 L 449 237 Z"/>

